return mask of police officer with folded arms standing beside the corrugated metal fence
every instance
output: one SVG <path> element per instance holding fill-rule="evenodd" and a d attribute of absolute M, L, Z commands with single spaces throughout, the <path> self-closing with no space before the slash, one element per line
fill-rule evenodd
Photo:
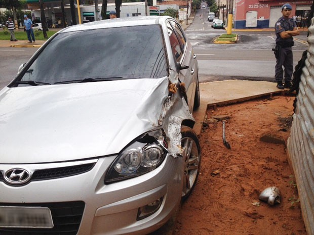
<path fill-rule="evenodd" d="M 276 55 L 275 80 L 277 82 L 277 88 L 279 89 L 291 87 L 291 77 L 293 73 L 293 36 L 300 34 L 293 19 L 289 19 L 291 10 L 291 5 L 285 4 L 281 8 L 283 16 L 279 18 L 275 24 L 277 35 L 276 47 L 278 49 L 278 54 Z M 283 66 L 285 68 L 285 77 Z M 285 85 L 283 85 L 283 78 L 285 78 Z"/>

